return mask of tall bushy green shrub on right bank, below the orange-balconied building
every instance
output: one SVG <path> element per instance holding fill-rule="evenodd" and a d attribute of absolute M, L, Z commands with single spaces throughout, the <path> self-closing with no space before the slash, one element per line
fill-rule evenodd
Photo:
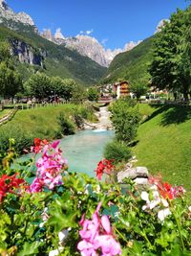
<path fill-rule="evenodd" d="M 137 136 L 140 115 L 138 107 L 129 99 L 121 99 L 111 107 L 112 123 L 118 141 L 130 143 Z"/>

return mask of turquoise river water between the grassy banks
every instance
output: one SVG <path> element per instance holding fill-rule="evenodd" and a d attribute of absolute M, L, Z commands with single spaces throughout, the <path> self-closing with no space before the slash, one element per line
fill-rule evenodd
<path fill-rule="evenodd" d="M 113 130 L 82 130 L 60 140 L 63 156 L 68 160 L 70 172 L 96 176 L 94 170 L 103 158 L 104 146 L 114 137 Z"/>

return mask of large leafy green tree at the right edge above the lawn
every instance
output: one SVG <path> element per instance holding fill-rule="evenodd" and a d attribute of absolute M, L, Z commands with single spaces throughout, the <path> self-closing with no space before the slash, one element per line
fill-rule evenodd
<path fill-rule="evenodd" d="M 150 66 L 152 84 L 183 94 L 185 100 L 191 85 L 190 18 L 191 7 L 173 13 L 156 36 L 154 60 Z"/>

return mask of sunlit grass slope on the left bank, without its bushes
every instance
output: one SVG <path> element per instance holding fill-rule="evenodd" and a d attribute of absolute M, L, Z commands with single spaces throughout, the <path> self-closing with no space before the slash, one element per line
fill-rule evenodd
<path fill-rule="evenodd" d="M 56 138 L 59 124 L 57 117 L 60 112 L 64 112 L 68 117 L 72 117 L 78 112 L 84 115 L 88 110 L 81 105 L 56 105 L 38 107 L 33 109 L 18 110 L 14 118 L 4 125 L 1 129 L 11 130 L 15 127 L 21 128 L 27 137 L 34 138 Z M 93 118 L 91 114 L 87 114 L 87 118 Z"/>

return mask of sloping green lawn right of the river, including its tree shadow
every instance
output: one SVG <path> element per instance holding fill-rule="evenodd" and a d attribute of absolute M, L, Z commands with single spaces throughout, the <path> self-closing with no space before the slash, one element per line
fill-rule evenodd
<path fill-rule="evenodd" d="M 191 191 L 191 108 L 139 105 L 139 109 L 150 116 L 138 128 L 133 149 L 138 166 Z"/>

